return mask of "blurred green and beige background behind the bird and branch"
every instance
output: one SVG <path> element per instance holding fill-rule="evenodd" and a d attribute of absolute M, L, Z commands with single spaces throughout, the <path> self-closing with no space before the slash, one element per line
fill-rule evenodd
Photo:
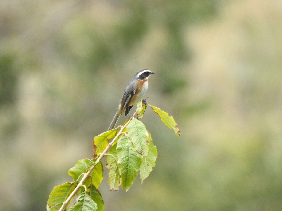
<path fill-rule="evenodd" d="M 0 210 L 46 210 L 134 73 L 158 149 L 105 210 L 282 210 L 282 1 L 0 3 Z M 122 117 L 119 124 L 126 118 Z M 105 161 L 103 160 L 103 165 Z"/>

